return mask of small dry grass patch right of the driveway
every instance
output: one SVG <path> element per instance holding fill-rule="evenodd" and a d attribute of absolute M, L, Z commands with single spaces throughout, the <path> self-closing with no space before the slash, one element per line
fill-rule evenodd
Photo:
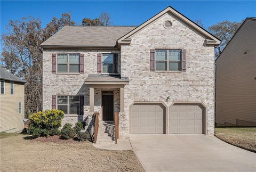
<path fill-rule="evenodd" d="M 256 127 L 218 127 L 215 136 L 229 144 L 256 152 Z"/>

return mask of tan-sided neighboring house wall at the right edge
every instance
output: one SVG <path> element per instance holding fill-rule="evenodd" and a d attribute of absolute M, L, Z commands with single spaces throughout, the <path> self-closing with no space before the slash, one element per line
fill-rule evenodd
<path fill-rule="evenodd" d="M 217 125 L 256 126 L 256 18 L 246 18 L 216 60 Z"/>

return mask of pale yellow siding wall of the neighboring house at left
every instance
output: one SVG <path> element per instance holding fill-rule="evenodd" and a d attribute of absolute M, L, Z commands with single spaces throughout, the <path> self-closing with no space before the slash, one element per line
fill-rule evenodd
<path fill-rule="evenodd" d="M 21 102 L 22 110 L 18 112 Z M 24 84 L 14 82 L 14 94 L 11 94 L 10 81 L 5 80 L 5 94 L 0 94 L 1 132 L 20 132 L 24 118 Z"/>

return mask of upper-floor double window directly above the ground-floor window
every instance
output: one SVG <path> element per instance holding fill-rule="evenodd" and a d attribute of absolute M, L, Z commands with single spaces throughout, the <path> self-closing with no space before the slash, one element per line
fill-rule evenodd
<path fill-rule="evenodd" d="M 78 73 L 79 72 L 79 54 L 58 54 L 57 72 L 59 73 Z"/>

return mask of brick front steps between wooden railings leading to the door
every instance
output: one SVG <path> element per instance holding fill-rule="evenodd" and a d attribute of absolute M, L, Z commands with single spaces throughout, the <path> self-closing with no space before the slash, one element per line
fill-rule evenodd
<path fill-rule="evenodd" d="M 115 124 L 113 121 L 99 121 L 97 144 L 115 144 Z"/>

